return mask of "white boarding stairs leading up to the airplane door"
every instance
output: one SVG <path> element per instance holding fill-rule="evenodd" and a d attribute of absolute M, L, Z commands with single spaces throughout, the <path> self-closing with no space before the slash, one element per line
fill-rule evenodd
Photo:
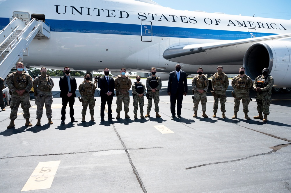
<path fill-rule="evenodd" d="M 5 78 L 16 62 L 29 55 L 29 44 L 34 38 L 50 39 L 50 27 L 32 19 L 28 24 L 21 18 L 10 19 L 0 32 L 0 77 Z"/>

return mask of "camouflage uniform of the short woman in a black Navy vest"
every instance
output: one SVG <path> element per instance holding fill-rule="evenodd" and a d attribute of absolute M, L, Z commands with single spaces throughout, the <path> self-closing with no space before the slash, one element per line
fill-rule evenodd
<path fill-rule="evenodd" d="M 135 88 L 135 86 L 137 88 Z M 139 104 L 139 111 L 140 113 L 143 113 L 143 105 L 145 105 L 144 100 L 143 100 L 143 96 L 139 97 L 139 94 L 145 95 L 145 85 L 141 82 L 139 82 L 139 84 L 137 82 L 134 82 L 132 84 L 132 96 L 133 96 L 133 113 L 137 113 L 137 109 L 138 109 L 138 104 Z"/>

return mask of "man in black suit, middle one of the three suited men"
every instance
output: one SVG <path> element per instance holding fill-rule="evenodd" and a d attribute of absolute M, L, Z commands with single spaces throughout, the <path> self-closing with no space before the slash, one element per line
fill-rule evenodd
<path fill-rule="evenodd" d="M 104 76 L 99 79 L 101 108 L 100 115 L 101 120 L 104 121 L 104 110 L 107 102 L 108 105 L 108 119 L 114 119 L 112 117 L 111 104 L 114 96 L 114 80 L 109 76 L 109 69 L 104 68 Z"/>

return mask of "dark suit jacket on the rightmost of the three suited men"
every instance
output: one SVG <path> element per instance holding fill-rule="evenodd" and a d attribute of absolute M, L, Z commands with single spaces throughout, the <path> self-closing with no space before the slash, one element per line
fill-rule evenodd
<path fill-rule="evenodd" d="M 187 75 L 184 71 L 180 70 L 180 79 L 178 81 L 177 72 L 170 73 L 168 81 L 168 93 L 183 94 L 188 92 Z"/>

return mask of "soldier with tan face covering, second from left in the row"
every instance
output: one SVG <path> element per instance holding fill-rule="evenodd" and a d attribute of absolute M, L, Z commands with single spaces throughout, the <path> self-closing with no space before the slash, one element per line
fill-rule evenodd
<path fill-rule="evenodd" d="M 53 124 L 52 122 L 52 88 L 54 87 L 54 81 L 51 77 L 47 75 L 47 68 L 40 68 L 41 75 L 36 77 L 33 81 L 33 89 L 35 96 L 36 104 L 36 125 L 40 125 L 40 119 L 42 118 L 43 105 L 45 105 L 45 110 L 47 118 L 49 120 L 49 125 Z"/>

